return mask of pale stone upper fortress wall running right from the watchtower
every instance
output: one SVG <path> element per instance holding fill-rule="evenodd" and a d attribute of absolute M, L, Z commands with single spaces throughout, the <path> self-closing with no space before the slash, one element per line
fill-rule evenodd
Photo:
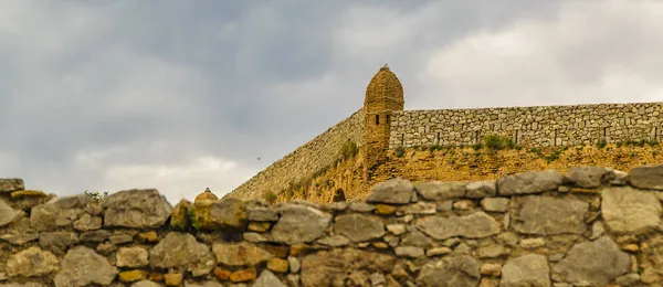
<path fill-rule="evenodd" d="M 393 111 L 389 148 L 459 146 L 506 136 L 520 146 L 663 139 L 663 103 Z"/>

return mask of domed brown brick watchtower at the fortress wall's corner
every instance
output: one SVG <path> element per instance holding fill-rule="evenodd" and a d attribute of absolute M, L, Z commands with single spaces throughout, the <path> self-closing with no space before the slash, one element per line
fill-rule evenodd
<path fill-rule="evenodd" d="M 364 178 L 369 180 L 369 171 L 379 164 L 380 158 L 389 148 L 391 115 L 403 110 L 403 87 L 387 64 L 370 79 L 364 100 Z"/>

